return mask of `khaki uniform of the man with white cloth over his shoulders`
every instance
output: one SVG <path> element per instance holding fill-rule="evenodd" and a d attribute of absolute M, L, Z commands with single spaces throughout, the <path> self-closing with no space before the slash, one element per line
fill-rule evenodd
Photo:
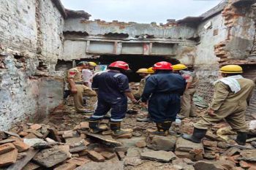
<path fill-rule="evenodd" d="M 234 131 L 248 131 L 245 110 L 255 88 L 255 83 L 245 78 L 237 79 L 237 81 L 241 87 L 238 93 L 233 93 L 229 86 L 223 82 L 215 84 L 214 98 L 209 108 L 215 111 L 216 117 L 211 117 L 208 114 L 203 115 L 202 119 L 194 124 L 195 128 L 208 129 L 213 123 L 225 119 Z"/>

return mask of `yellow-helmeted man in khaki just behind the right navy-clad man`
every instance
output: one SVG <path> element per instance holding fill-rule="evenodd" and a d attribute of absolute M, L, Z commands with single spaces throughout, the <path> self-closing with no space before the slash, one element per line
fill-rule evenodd
<path fill-rule="evenodd" d="M 196 92 L 198 77 L 195 72 L 190 72 L 184 64 L 173 65 L 173 72 L 180 74 L 187 82 L 186 90 L 181 97 L 181 111 L 178 116 L 181 119 L 186 117 L 197 117 L 195 113 L 195 104 L 193 103 L 193 96 Z"/>

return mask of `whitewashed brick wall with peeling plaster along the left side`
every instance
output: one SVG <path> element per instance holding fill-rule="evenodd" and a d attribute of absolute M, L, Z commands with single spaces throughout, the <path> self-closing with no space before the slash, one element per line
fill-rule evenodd
<path fill-rule="evenodd" d="M 0 130 L 7 130 L 61 104 L 63 82 L 51 75 L 62 55 L 64 17 L 52 1 L 0 4 Z"/>

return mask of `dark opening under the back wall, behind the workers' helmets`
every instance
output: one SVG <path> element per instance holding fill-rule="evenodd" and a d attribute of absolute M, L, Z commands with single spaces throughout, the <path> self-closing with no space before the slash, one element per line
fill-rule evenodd
<path fill-rule="evenodd" d="M 132 72 L 127 74 L 129 82 L 140 82 L 140 76 L 136 73 L 136 71 L 141 68 L 149 68 L 153 66 L 154 63 L 159 61 L 167 61 L 172 64 L 180 63 L 176 58 L 148 55 L 100 55 L 99 58 L 85 58 L 83 61 L 94 61 L 96 63 L 107 65 L 114 61 L 125 61 L 129 63 L 129 68 L 132 69 Z"/>

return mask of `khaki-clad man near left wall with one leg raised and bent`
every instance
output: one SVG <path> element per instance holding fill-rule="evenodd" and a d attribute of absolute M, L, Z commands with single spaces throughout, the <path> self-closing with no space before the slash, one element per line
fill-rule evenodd
<path fill-rule="evenodd" d="M 97 93 L 91 90 L 91 88 L 86 87 L 86 85 L 83 85 L 82 69 L 88 69 L 88 63 L 86 61 L 81 61 L 78 63 L 77 67 L 68 70 L 67 81 L 69 82 L 68 88 L 71 90 L 72 96 L 74 97 L 76 111 L 88 113 L 91 111 L 83 107 L 83 95 L 97 96 Z"/>

